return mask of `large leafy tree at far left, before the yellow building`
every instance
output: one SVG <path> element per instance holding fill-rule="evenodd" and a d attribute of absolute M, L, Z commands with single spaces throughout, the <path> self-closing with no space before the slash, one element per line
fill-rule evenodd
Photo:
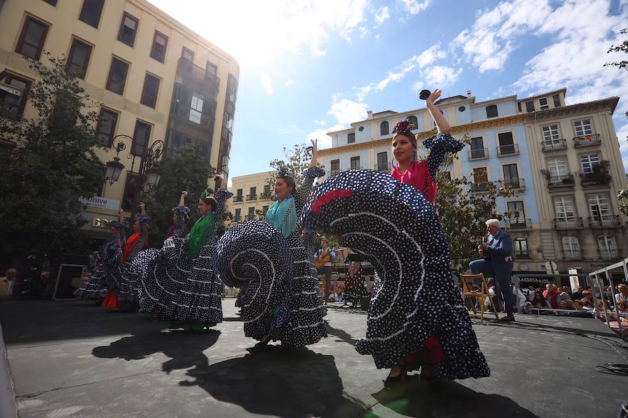
<path fill-rule="evenodd" d="M 34 118 L 0 118 L 0 137 L 16 146 L 0 153 L 0 253 L 27 255 L 84 250 L 81 197 L 98 194 L 105 167 L 94 153 L 98 115 L 66 59 L 27 59 L 39 81 L 28 95 Z"/>

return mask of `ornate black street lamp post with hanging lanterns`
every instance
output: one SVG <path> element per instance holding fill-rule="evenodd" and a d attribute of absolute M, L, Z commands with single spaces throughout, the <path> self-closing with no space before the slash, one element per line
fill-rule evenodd
<path fill-rule="evenodd" d="M 117 138 L 128 139 L 131 146 L 133 146 L 133 137 L 119 134 L 114 137 L 114 141 Z M 142 155 L 135 155 L 134 153 L 128 155 L 128 159 L 133 158 L 129 170 L 130 173 L 135 173 L 135 171 L 133 171 L 133 167 L 135 167 L 135 157 L 140 158 L 140 167 L 137 170 L 137 186 L 135 187 L 134 198 L 130 208 L 131 219 L 135 219 L 135 210 L 137 210 L 137 206 L 140 204 L 140 192 L 149 193 L 159 184 L 161 175 L 155 168 L 155 164 L 158 162 L 161 155 L 163 155 L 163 146 L 163 141 L 155 141 L 151 146 L 143 150 Z M 105 180 L 109 182 L 110 185 L 119 180 L 120 174 L 124 169 L 124 164 L 120 162 L 119 155 L 120 151 L 126 150 L 126 144 L 119 140 L 118 143 L 114 145 L 114 149 L 116 150 L 116 156 L 113 161 L 107 162 L 107 171 L 105 173 Z"/>

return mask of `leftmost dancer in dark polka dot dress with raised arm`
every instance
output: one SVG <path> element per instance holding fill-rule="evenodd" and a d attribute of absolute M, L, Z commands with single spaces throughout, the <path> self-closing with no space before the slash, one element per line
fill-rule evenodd
<path fill-rule="evenodd" d="M 110 275 L 122 259 L 122 249 L 126 242 L 124 229 L 128 222 L 124 221 L 122 209 L 118 210 L 118 221 L 111 223 L 111 237 L 100 245 L 96 254 L 96 267 L 91 277 L 74 293 L 77 299 L 100 300 L 107 294 L 107 283 L 115 282 Z M 100 302 L 98 302 L 100 304 Z"/>

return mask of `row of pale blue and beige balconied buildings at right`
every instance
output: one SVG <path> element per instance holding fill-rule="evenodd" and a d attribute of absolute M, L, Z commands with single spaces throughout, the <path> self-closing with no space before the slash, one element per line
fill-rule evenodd
<path fill-rule="evenodd" d="M 618 98 L 566 106 L 566 94 L 563 88 L 476 102 L 468 91 L 436 103 L 451 134 L 470 141 L 441 169 L 451 178 L 470 178 L 473 193 L 495 180 L 516 191 L 497 201 L 498 212 L 518 213 L 503 223 L 514 240 L 516 272 L 544 273 L 548 261 L 558 262 L 560 272 L 588 272 L 628 256 L 627 219 L 615 199 L 626 183 L 612 120 Z M 320 150 L 326 176 L 348 169 L 391 171 L 392 127 L 403 119 L 416 127 L 419 155 L 426 155 L 421 141 L 435 127 L 427 109 L 368 111 L 366 120 L 327 133 L 331 148 Z"/>

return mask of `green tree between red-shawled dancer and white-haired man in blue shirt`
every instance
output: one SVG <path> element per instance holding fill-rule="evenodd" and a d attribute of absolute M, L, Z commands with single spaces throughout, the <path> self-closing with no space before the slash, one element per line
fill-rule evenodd
<path fill-rule="evenodd" d="M 463 142 L 470 138 L 465 135 Z M 449 155 L 447 164 L 451 164 L 458 155 Z M 518 213 L 500 214 L 496 201 L 499 197 L 514 196 L 512 187 L 504 187 L 500 180 L 488 183 L 481 193 L 470 192 L 471 181 L 466 176 L 449 179 L 445 171 L 436 176 L 438 193 L 435 206 L 440 218 L 440 225 L 449 242 L 451 251 L 451 269 L 455 274 L 464 274 L 469 270 L 470 261 L 478 258 L 477 246 L 486 237 L 488 219 L 517 217 Z"/>

